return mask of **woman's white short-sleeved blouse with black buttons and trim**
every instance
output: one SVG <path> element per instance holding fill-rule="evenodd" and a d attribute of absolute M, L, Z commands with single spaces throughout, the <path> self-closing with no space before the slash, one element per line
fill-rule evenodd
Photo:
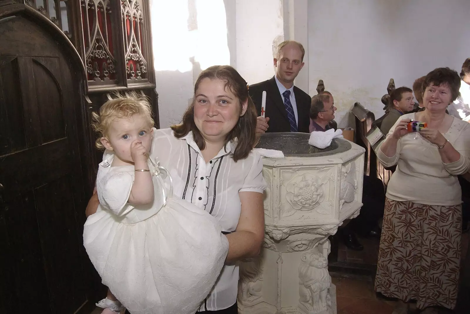
<path fill-rule="evenodd" d="M 263 162 L 258 153 L 235 162 L 234 143 L 228 143 L 208 163 L 204 161 L 192 132 L 175 138 L 171 129 L 154 130 L 150 156 L 167 168 L 173 179 L 174 197 L 186 199 L 214 216 L 222 230 L 236 230 L 241 202 L 238 192 L 263 193 Z M 211 294 L 199 311 L 217 311 L 235 304 L 238 288 L 238 266 L 225 265 Z"/>

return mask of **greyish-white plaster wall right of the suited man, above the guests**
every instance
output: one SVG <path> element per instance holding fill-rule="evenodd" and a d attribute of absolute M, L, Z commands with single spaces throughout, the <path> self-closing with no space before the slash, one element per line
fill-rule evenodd
<path fill-rule="evenodd" d="M 309 0 L 309 94 L 323 79 L 340 127 L 355 101 L 380 117 L 390 78 L 411 88 L 437 67 L 460 73 L 470 57 L 469 12 L 469 0 Z"/>

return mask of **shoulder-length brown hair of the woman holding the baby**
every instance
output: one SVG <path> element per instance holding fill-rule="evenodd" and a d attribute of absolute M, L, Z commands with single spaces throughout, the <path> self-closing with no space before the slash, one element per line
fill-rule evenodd
<path fill-rule="evenodd" d="M 224 145 L 227 145 L 231 140 L 235 140 L 236 147 L 232 156 L 234 161 L 239 161 L 240 159 L 248 157 L 248 154 L 258 143 L 258 138 L 256 136 L 257 112 L 255 105 L 248 94 L 248 84 L 231 66 L 214 65 L 199 74 L 196 84 L 194 84 L 194 95 L 196 95 L 197 88 L 204 78 L 224 81 L 224 87 L 238 98 L 240 102 L 240 111 L 242 110 L 242 104 L 247 101 L 248 106 L 245 114 L 239 117 L 235 127 L 228 132 L 225 137 Z M 197 129 L 196 123 L 194 123 L 194 102 L 195 99 L 193 99 L 189 107 L 184 112 L 181 123 L 172 125 L 171 128 L 176 138 L 182 138 L 186 136 L 189 131 L 192 131 L 197 146 L 200 150 L 203 150 L 205 148 L 204 137 L 201 134 L 201 131 Z"/>

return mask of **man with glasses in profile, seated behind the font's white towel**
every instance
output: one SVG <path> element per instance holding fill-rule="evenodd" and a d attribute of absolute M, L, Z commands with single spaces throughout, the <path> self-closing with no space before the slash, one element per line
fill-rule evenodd
<path fill-rule="evenodd" d="M 334 128 L 332 121 L 335 118 L 335 111 L 335 102 L 330 92 L 323 91 L 313 96 L 310 106 L 310 133 Z"/>

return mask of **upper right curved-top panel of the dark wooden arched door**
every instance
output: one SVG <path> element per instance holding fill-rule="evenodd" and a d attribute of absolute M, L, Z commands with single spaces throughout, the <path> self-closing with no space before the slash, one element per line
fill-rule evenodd
<path fill-rule="evenodd" d="M 65 123 L 63 121 L 63 95 L 60 82 L 60 63 L 58 58 L 32 59 L 32 68 L 36 85 L 39 124 L 41 126 L 42 143 L 64 138 Z"/>

